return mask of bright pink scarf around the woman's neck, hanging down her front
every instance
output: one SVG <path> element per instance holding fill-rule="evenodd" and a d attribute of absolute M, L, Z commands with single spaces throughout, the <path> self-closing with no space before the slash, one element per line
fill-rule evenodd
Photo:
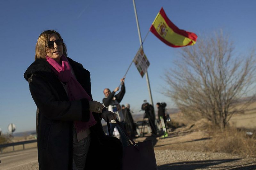
<path fill-rule="evenodd" d="M 71 73 L 71 68 L 68 63 L 68 59 L 63 54 L 61 56 L 62 65 L 60 65 L 54 59 L 46 56 L 46 61 L 52 66 L 52 70 L 59 77 L 59 80 L 66 82 L 68 88 L 68 98 L 69 101 L 80 100 L 86 98 L 88 101 L 92 101 L 92 98 L 86 93 L 81 84 L 76 80 L 75 76 Z M 80 132 L 84 132 L 85 129 L 96 124 L 92 112 L 90 112 L 90 118 L 88 122 L 74 121 L 77 135 Z"/>

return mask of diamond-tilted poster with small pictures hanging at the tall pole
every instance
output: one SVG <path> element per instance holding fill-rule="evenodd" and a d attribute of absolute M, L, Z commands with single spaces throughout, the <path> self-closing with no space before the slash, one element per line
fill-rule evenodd
<path fill-rule="evenodd" d="M 141 77 L 143 78 L 144 74 L 148 70 L 148 66 L 150 63 L 142 48 L 140 48 L 137 54 L 135 55 L 133 62 L 137 70 L 139 71 Z"/>

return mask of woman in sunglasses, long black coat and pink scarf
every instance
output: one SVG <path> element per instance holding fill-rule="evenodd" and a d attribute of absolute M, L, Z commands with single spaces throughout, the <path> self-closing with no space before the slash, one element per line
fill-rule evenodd
<path fill-rule="evenodd" d="M 121 169 L 122 143 L 101 125 L 102 118 L 111 121 L 116 114 L 92 100 L 90 72 L 67 57 L 54 30 L 41 33 L 35 51 L 24 78 L 37 106 L 39 169 Z"/>

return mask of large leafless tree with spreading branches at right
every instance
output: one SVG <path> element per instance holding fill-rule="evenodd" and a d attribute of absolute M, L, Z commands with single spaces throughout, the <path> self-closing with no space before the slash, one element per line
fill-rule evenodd
<path fill-rule="evenodd" d="M 235 57 L 233 52 L 233 44 L 221 31 L 183 48 L 180 60 L 164 75 L 169 85 L 165 95 L 189 118 L 207 118 L 225 128 L 231 116 L 249 103 L 239 108 L 234 104 L 253 91 L 256 75 L 254 50 L 247 57 Z"/>

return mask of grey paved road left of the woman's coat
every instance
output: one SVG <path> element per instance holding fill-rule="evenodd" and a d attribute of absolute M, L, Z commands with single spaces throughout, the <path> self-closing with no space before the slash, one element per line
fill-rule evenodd
<path fill-rule="evenodd" d="M 0 154 L 1 170 L 38 169 L 37 148 Z"/>

